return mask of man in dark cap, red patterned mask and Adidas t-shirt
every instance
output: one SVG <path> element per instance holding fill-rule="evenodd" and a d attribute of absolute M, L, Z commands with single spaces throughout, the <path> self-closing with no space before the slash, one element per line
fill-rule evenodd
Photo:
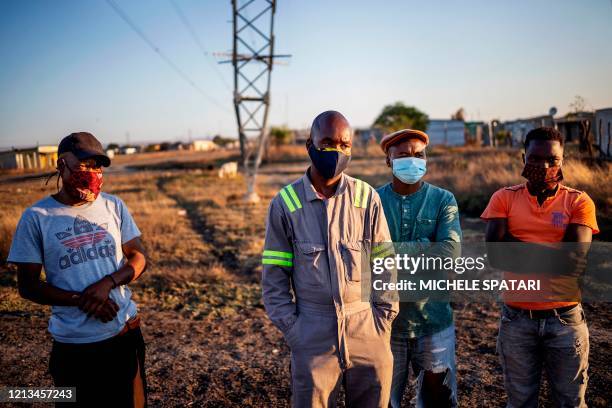
<path fill-rule="evenodd" d="M 123 201 L 101 192 L 110 159 L 93 135 L 65 137 L 58 153 L 62 188 L 24 211 L 8 262 L 21 296 L 52 306 L 55 385 L 77 387 L 81 406 L 145 406 L 144 340 L 127 287 L 146 267 L 140 231 Z"/>

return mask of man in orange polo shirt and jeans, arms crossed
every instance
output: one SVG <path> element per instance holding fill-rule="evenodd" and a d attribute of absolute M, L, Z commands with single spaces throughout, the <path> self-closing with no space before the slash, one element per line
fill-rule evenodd
<path fill-rule="evenodd" d="M 496 191 L 481 215 L 487 242 L 590 243 L 599 232 L 595 205 L 560 183 L 563 136 L 553 128 L 532 130 L 523 160 L 527 183 Z M 508 407 L 537 407 L 542 368 L 558 406 L 586 407 L 589 331 L 580 303 L 506 300 L 497 349 Z"/>

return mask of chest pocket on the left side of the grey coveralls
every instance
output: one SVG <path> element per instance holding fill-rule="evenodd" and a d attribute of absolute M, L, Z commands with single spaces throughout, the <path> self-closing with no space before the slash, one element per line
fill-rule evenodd
<path fill-rule="evenodd" d="M 323 244 L 295 242 L 297 247 L 293 279 L 297 286 L 321 287 L 327 280 L 327 252 Z"/>

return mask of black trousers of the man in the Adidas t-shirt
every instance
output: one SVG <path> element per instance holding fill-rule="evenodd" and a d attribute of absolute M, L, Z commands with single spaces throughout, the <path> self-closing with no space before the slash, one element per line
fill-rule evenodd
<path fill-rule="evenodd" d="M 146 407 L 144 357 L 145 344 L 140 328 L 96 343 L 54 340 L 49 360 L 53 382 L 56 387 L 76 387 L 77 399 L 76 403 L 56 406 L 134 407 L 136 396 L 136 400 L 144 398 Z M 138 377 L 142 381 L 138 381 Z"/>

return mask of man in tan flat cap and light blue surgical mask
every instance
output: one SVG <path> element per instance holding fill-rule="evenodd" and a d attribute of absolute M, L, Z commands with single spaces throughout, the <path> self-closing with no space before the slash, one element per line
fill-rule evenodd
<path fill-rule="evenodd" d="M 381 141 L 393 180 L 377 191 L 397 252 L 419 256 L 422 248 L 454 256 L 461 241 L 459 212 L 449 191 L 422 180 L 429 137 L 404 129 Z M 415 252 L 416 251 L 416 252 Z M 414 253 L 413 253 L 414 252 Z M 398 277 L 401 279 L 401 277 Z M 417 407 L 457 405 L 455 326 L 448 300 L 402 301 L 391 331 L 391 406 L 399 407 L 413 367 Z"/>

